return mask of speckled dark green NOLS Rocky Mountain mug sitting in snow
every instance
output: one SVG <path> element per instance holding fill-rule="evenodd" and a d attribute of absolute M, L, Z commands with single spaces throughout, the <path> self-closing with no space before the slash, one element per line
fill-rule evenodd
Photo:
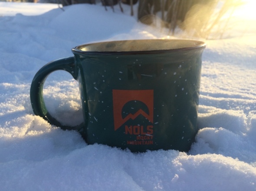
<path fill-rule="evenodd" d="M 30 100 L 35 115 L 79 131 L 88 144 L 131 152 L 187 152 L 197 134 L 202 53 L 194 40 L 109 41 L 72 48 L 74 56 L 52 61 L 35 75 Z M 43 101 L 43 83 L 55 70 L 79 82 L 83 124 L 67 127 Z"/>

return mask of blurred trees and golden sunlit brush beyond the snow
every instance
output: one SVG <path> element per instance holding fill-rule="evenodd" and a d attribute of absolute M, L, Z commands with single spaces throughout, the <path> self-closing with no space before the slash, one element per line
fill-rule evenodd
<path fill-rule="evenodd" d="M 131 16 L 138 22 L 168 30 L 169 35 L 191 38 L 222 39 L 232 37 L 227 31 L 237 22 L 233 15 L 256 0 L 0 0 L 9 2 L 57 3 L 60 9 L 77 3 L 100 4 L 106 11 L 123 12 L 123 6 L 131 7 Z M 252 7 L 251 7 L 252 8 Z M 64 9 L 63 9 L 64 11 Z M 104 10 L 102 10 L 104 11 Z M 253 9 L 240 14 L 252 14 Z M 247 18 L 246 18 L 247 19 Z M 241 29 L 246 32 L 248 25 Z M 182 36 L 180 36 L 182 37 Z"/>

